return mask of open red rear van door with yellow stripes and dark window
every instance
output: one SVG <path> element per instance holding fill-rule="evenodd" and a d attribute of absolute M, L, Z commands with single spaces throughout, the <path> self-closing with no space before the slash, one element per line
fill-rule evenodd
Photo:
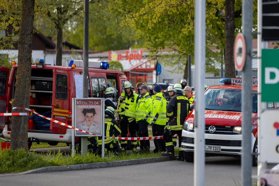
<path fill-rule="evenodd" d="M 51 118 L 67 124 L 69 112 L 69 72 L 64 69 L 53 70 L 53 92 L 51 104 Z M 55 122 L 50 122 L 50 130 L 53 133 L 65 134 L 67 128 Z"/>

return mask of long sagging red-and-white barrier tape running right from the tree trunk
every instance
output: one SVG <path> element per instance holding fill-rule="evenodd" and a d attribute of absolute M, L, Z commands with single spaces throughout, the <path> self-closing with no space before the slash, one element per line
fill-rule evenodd
<path fill-rule="evenodd" d="M 81 129 L 79 129 L 79 128 L 75 128 L 75 127 L 73 127 L 73 126 L 67 125 L 67 124 L 65 124 L 65 123 L 62 123 L 61 121 L 57 121 L 57 120 L 55 120 L 55 119 L 51 119 L 51 118 L 45 117 L 45 116 L 40 115 L 40 114 L 38 114 L 37 112 L 35 112 L 35 111 L 31 110 L 31 109 L 20 108 L 20 107 L 13 107 L 13 109 L 24 109 L 24 110 L 28 110 L 28 111 L 33 112 L 34 114 L 37 114 L 38 116 L 40 116 L 40 117 L 42 117 L 42 118 L 45 118 L 45 119 L 50 120 L 50 121 L 53 121 L 53 122 L 55 122 L 55 123 L 57 123 L 57 124 L 60 124 L 60 125 L 65 126 L 65 127 L 67 127 L 67 128 L 72 128 L 72 129 L 74 129 L 74 130 L 76 130 L 76 131 L 84 132 L 84 133 L 87 133 L 87 134 L 92 134 L 92 135 L 94 135 L 94 136 L 99 136 L 99 135 L 96 135 L 96 134 L 93 134 L 93 133 L 90 133 L 90 132 L 83 131 L 83 130 L 81 130 Z M 4 114 L 10 114 L 10 113 L 4 113 Z M 17 113 L 13 113 L 13 114 L 17 114 Z M 27 115 L 28 113 L 20 113 L 20 114 L 24 114 L 24 115 L 26 114 L 26 115 Z M 176 136 L 177 136 L 177 134 L 175 134 L 173 137 L 176 137 Z M 102 137 L 102 136 L 99 136 L 99 137 Z M 162 138 L 163 138 L 163 136 L 138 137 L 138 138 L 109 137 L 109 136 L 105 136 L 105 137 L 106 137 L 106 138 L 122 139 L 122 140 L 151 140 L 151 139 L 162 139 Z"/>

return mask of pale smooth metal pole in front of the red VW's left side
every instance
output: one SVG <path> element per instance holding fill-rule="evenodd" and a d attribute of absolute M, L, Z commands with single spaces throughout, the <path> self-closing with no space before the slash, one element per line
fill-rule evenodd
<path fill-rule="evenodd" d="M 204 185 L 204 74 L 205 74 L 205 0 L 195 2 L 196 115 L 194 185 Z"/>

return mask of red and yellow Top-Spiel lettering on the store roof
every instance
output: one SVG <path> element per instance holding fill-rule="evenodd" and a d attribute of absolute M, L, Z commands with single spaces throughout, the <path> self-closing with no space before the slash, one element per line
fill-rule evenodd
<path fill-rule="evenodd" d="M 142 59 L 142 53 L 143 50 L 140 50 L 138 53 L 136 53 L 137 51 L 134 50 L 134 53 L 130 53 L 130 51 L 126 52 L 125 54 L 118 54 L 116 52 L 108 52 L 109 54 L 109 60 L 112 61 L 120 61 L 120 60 L 129 60 L 129 62 L 131 62 L 131 60 L 141 60 Z"/>

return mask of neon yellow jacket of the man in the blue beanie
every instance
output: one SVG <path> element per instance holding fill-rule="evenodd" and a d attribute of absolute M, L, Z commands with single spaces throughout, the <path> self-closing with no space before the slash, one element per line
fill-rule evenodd
<path fill-rule="evenodd" d="M 163 97 L 162 92 L 158 92 L 156 95 L 152 96 L 151 105 L 151 122 L 150 124 L 166 125 L 166 110 L 167 102 Z"/>

